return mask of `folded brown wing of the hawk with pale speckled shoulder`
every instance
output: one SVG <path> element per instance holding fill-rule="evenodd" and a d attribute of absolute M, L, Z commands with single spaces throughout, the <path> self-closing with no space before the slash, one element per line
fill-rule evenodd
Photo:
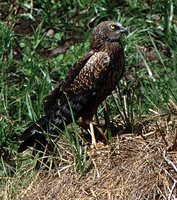
<path fill-rule="evenodd" d="M 109 68 L 110 57 L 107 52 L 86 54 L 70 69 L 65 80 L 45 97 L 45 115 L 52 115 L 58 110 L 64 113 L 67 110 L 65 94 L 71 98 L 74 112 L 80 112 L 88 101 L 95 98 L 96 90 L 102 85 L 101 79 Z"/>

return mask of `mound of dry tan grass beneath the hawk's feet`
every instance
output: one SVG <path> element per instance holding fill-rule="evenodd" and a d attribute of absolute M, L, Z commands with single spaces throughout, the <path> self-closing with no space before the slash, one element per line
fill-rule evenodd
<path fill-rule="evenodd" d="M 70 164 L 57 171 L 38 172 L 16 199 L 175 200 L 176 137 L 176 120 L 155 120 L 144 127 L 143 137 L 124 134 L 109 146 L 90 150 L 91 164 L 84 176 L 76 172 L 70 157 Z"/>

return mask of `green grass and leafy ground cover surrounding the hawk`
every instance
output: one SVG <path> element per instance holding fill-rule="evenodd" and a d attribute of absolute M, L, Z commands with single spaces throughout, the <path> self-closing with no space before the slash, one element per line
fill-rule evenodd
<path fill-rule="evenodd" d="M 42 115 L 43 98 L 88 49 L 92 28 L 103 20 L 119 21 L 129 27 L 129 35 L 122 38 L 126 74 L 107 100 L 110 121 L 114 126 L 121 125 L 116 134 L 144 137 L 144 126 L 160 116 L 166 116 L 164 121 L 173 116 L 175 126 L 176 19 L 175 0 L 0 2 L 2 198 L 14 199 L 33 181 L 36 162 L 42 161 L 37 156 L 30 159 L 30 151 L 19 155 L 16 137 Z M 105 120 L 103 106 L 98 118 L 100 122 Z M 89 147 L 78 135 L 82 131 L 75 123 L 66 128 L 55 154 L 49 157 L 50 164 L 43 164 L 43 168 L 51 172 L 53 165 L 62 170 L 73 167 L 81 175 L 92 168 Z M 112 129 L 107 132 L 110 140 L 114 140 Z"/>

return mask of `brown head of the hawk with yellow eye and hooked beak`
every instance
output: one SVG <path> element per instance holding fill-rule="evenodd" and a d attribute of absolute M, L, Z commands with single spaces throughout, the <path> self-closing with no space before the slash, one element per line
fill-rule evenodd
<path fill-rule="evenodd" d="M 102 43 L 105 44 L 105 42 L 119 42 L 122 33 L 128 33 L 128 29 L 124 28 L 120 23 L 103 21 L 93 31 L 92 46 L 94 43 L 97 43 L 96 45 L 98 46 L 99 44 L 102 45 Z"/>

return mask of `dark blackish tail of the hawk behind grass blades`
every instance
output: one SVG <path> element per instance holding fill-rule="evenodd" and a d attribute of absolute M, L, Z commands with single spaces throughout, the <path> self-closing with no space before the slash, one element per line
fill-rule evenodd
<path fill-rule="evenodd" d="M 48 144 L 45 133 L 49 133 L 50 137 L 55 138 L 58 135 L 58 130 L 64 130 L 65 125 L 67 126 L 72 122 L 68 110 L 66 106 L 63 106 L 61 110 L 56 112 L 57 114 L 43 116 L 27 128 L 18 138 L 20 143 L 18 152 L 23 152 L 28 147 L 33 146 L 36 150 L 44 151 Z"/>

